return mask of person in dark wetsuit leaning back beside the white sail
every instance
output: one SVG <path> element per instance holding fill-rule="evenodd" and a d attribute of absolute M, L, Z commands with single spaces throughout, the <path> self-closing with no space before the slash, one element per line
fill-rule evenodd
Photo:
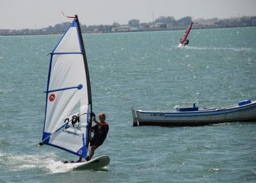
<path fill-rule="evenodd" d="M 90 159 L 92 159 L 95 150 L 98 147 L 100 147 L 100 145 L 102 145 L 102 143 L 107 137 L 108 130 L 109 130 L 108 123 L 105 122 L 106 115 L 104 113 L 99 113 L 100 122 L 97 122 L 95 117 L 93 117 L 92 120 L 93 122 L 96 123 L 96 125 L 92 127 L 92 132 L 94 132 L 94 135 L 90 141 L 91 151 L 90 151 L 90 155 L 86 157 L 86 161 L 90 161 Z M 79 160 L 76 162 L 79 163 L 81 161 L 82 161 L 82 157 L 79 157 Z"/>

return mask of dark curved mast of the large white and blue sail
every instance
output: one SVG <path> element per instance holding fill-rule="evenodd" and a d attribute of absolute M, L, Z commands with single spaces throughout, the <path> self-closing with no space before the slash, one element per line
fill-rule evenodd
<path fill-rule="evenodd" d="M 79 23 L 77 15 L 75 15 L 75 17 L 76 17 L 76 21 L 77 21 L 78 35 L 79 35 L 79 40 L 80 40 L 83 59 L 84 59 L 84 70 L 85 70 L 85 73 L 86 73 L 86 83 L 87 83 L 87 90 L 88 90 L 88 104 L 90 104 L 90 113 L 92 113 L 92 92 L 91 92 L 91 84 L 90 84 L 88 63 L 87 63 L 87 58 L 86 58 L 86 52 L 85 52 L 85 49 L 84 49 L 84 42 L 83 42 L 83 36 L 82 36 L 82 32 L 81 32 L 80 23 Z M 90 115 L 90 122 L 89 122 L 89 129 L 88 129 L 88 131 L 89 131 L 88 132 L 88 140 L 87 140 L 87 143 L 86 143 L 87 148 L 89 148 L 91 128 L 92 128 L 92 115 Z"/>

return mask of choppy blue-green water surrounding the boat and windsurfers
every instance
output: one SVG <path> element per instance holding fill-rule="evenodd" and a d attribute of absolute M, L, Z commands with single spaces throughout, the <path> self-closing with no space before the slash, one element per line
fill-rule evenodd
<path fill-rule="evenodd" d="M 71 171 L 76 156 L 42 138 L 49 56 L 61 35 L 0 36 L 0 182 L 256 182 L 256 123 L 132 127 L 130 107 L 173 109 L 256 100 L 256 28 L 84 35 L 93 111 L 109 135 L 106 171 Z"/>

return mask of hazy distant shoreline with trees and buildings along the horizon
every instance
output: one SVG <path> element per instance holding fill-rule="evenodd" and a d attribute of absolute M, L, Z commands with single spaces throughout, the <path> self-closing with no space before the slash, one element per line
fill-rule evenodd
<path fill-rule="evenodd" d="M 82 33 L 126 33 L 126 32 L 140 32 L 140 31 L 172 31 L 172 30 L 186 30 L 191 22 L 192 29 L 214 29 L 214 28 L 240 28 L 256 26 L 256 16 L 253 17 L 232 17 L 230 19 L 196 19 L 192 17 L 183 17 L 175 20 L 174 17 L 161 16 L 153 22 L 140 22 L 140 20 L 132 19 L 128 24 L 120 25 L 113 22 L 112 25 L 93 25 L 86 26 L 81 24 Z M 0 29 L 0 35 L 58 35 L 62 34 L 70 26 L 70 22 L 62 22 L 55 26 L 49 26 L 42 29 Z"/>

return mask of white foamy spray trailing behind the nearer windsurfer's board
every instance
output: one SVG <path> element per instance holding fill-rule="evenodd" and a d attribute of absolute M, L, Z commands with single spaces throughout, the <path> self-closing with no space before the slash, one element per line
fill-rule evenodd
<path fill-rule="evenodd" d="M 6 173 L 32 169 L 42 169 L 47 173 L 63 173 L 72 170 L 71 164 L 63 164 L 61 161 L 56 161 L 57 158 L 55 154 L 40 156 L 0 153 L 0 164 Z"/>

